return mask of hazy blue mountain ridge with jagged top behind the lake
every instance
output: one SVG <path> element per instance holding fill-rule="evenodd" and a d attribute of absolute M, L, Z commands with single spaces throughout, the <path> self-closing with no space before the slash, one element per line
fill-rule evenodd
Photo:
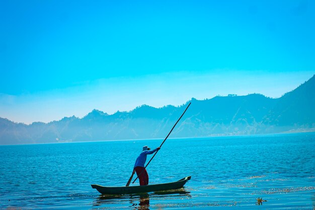
<path fill-rule="evenodd" d="M 315 128 L 315 76 L 281 98 L 261 94 L 192 98 L 171 137 L 259 134 Z M 142 105 L 112 115 L 94 109 L 83 118 L 64 117 L 30 125 L 0 118 L 0 144 L 104 141 L 165 137 L 187 106 Z"/>

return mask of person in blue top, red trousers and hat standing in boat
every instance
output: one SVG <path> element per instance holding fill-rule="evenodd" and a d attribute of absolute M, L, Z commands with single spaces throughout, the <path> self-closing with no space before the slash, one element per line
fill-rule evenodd
<path fill-rule="evenodd" d="M 139 177 L 140 185 L 148 185 L 148 183 L 149 183 L 149 176 L 146 172 L 146 169 L 144 168 L 146 156 L 151 155 L 158 150 L 160 150 L 160 147 L 158 147 L 154 150 L 151 150 L 148 146 L 144 146 L 142 148 L 142 152 L 138 156 L 138 158 L 134 164 L 134 167 L 133 167 L 133 173 L 134 173 L 134 171 L 137 173 L 137 176 Z"/>

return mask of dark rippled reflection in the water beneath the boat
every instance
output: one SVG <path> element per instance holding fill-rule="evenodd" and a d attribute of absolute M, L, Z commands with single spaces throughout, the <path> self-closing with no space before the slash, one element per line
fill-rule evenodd
<path fill-rule="evenodd" d="M 184 188 L 177 190 L 166 190 L 152 193 L 138 193 L 130 195 L 100 195 L 96 198 L 93 205 L 99 207 L 121 207 L 122 205 L 131 204 L 132 209 L 150 209 L 151 200 L 163 200 L 170 199 L 171 197 L 176 198 L 177 196 L 188 196 L 191 197 L 190 192 Z M 161 203 L 161 202 L 159 202 Z M 113 206 L 114 205 L 114 206 Z M 115 208 L 114 207 L 114 208 Z"/>

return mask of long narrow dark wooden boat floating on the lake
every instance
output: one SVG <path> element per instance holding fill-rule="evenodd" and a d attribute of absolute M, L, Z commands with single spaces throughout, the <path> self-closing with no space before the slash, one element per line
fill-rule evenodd
<path fill-rule="evenodd" d="M 129 187 L 104 187 L 98 184 L 91 184 L 92 188 L 97 189 L 102 194 L 120 195 L 120 194 L 133 194 L 140 192 L 155 192 L 171 189 L 179 189 L 183 187 L 191 176 L 187 176 L 177 182 L 170 182 L 164 184 L 151 184 L 151 185 L 140 185 L 140 186 L 129 186 Z"/>

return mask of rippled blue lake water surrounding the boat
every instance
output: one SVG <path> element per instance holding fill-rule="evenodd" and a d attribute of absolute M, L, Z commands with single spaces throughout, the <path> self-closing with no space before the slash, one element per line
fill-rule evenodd
<path fill-rule="evenodd" d="M 191 175 L 184 189 L 101 196 L 91 188 L 125 185 L 142 146 L 161 143 L 0 146 L 0 208 L 315 209 L 315 133 L 168 139 L 149 182 Z"/>

